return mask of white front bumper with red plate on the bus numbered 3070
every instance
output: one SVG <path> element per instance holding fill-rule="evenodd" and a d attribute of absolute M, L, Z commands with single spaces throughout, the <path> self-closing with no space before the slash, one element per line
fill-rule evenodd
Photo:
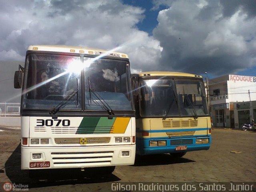
<path fill-rule="evenodd" d="M 135 149 L 135 144 L 127 146 L 47 148 L 21 146 L 21 169 L 133 165 Z M 122 152 L 126 152 L 126 154 L 129 152 L 129 156 L 123 156 Z M 33 159 L 33 154 L 40 154 L 41 157 Z"/>

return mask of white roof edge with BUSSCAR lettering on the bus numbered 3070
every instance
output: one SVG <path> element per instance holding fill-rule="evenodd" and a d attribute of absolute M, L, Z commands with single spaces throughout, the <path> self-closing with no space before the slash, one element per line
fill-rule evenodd
<path fill-rule="evenodd" d="M 34 51 L 52 51 L 52 52 L 65 52 L 65 53 L 80 53 L 91 55 L 104 55 L 120 58 L 128 58 L 127 54 L 120 52 L 112 52 L 102 49 L 88 48 L 82 46 L 68 46 L 68 45 L 30 45 L 28 50 Z"/>

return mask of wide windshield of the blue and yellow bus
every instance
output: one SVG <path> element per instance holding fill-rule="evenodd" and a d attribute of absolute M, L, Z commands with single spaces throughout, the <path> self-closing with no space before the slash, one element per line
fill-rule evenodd
<path fill-rule="evenodd" d="M 139 95 L 142 117 L 208 115 L 204 85 L 200 80 L 142 80 Z"/>

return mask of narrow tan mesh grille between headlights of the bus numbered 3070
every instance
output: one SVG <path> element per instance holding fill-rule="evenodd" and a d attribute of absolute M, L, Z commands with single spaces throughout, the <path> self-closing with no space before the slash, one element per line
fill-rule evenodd
<path fill-rule="evenodd" d="M 92 137 L 86 139 L 87 144 L 101 144 L 110 142 L 110 137 Z M 54 141 L 58 145 L 80 144 L 80 138 L 55 138 Z"/>

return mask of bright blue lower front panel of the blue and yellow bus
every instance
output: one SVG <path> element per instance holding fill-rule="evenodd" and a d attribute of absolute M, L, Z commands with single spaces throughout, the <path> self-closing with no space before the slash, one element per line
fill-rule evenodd
<path fill-rule="evenodd" d="M 136 138 L 136 154 L 139 155 L 150 155 L 150 154 L 164 154 L 164 153 L 180 153 L 189 151 L 208 150 L 211 145 L 211 137 L 200 137 L 209 138 L 208 144 L 196 144 L 195 137 L 193 138 L 176 138 L 176 139 L 152 139 L 152 138 Z M 149 146 L 149 142 L 153 140 L 166 140 L 166 146 Z M 188 140 L 190 142 L 188 142 Z M 176 143 L 176 145 L 171 145 Z M 178 144 L 179 143 L 179 144 Z M 176 150 L 176 146 L 186 146 L 186 150 Z"/>

